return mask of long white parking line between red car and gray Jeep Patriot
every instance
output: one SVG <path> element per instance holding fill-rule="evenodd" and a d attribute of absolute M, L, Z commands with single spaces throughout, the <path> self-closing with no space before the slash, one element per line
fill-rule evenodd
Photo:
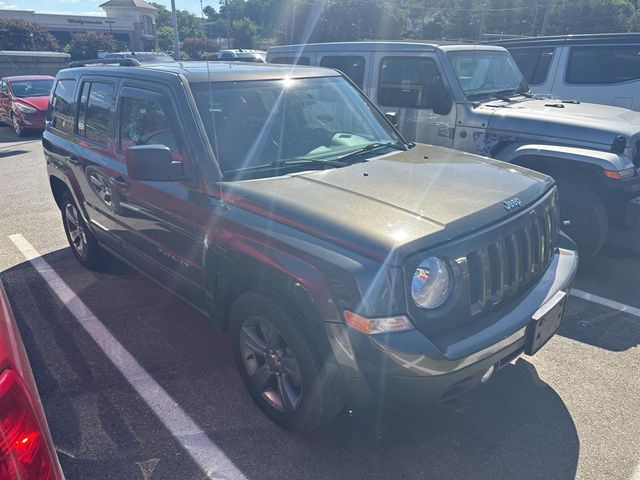
<path fill-rule="evenodd" d="M 78 323 L 93 338 L 133 389 L 156 414 L 194 462 L 209 478 L 245 479 L 233 462 L 211 441 L 169 394 L 147 373 L 125 347 L 109 333 L 40 253 L 22 235 L 9 239 L 29 260 Z"/>

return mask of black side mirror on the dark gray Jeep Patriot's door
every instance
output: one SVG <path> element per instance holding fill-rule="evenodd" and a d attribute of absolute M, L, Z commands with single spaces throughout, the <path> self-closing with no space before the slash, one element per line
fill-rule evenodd
<path fill-rule="evenodd" d="M 127 173 L 133 180 L 174 182 L 184 180 L 184 166 L 165 145 L 136 145 L 125 154 Z"/>

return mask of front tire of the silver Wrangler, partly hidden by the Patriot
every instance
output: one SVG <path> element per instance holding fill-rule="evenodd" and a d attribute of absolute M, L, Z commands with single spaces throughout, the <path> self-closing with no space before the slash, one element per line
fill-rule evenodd
<path fill-rule="evenodd" d="M 609 233 L 609 216 L 600 196 L 588 185 L 560 181 L 562 230 L 578 245 L 580 260 L 593 258 Z"/>

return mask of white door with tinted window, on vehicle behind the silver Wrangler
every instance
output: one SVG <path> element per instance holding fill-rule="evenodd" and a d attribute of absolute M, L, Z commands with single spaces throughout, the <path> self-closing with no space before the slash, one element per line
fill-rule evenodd
<path fill-rule="evenodd" d="M 575 45 L 565 51 L 554 96 L 640 110 L 640 45 Z"/>

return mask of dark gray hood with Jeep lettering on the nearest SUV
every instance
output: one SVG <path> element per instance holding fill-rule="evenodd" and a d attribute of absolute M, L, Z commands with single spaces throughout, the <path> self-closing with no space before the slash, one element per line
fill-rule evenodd
<path fill-rule="evenodd" d="M 231 208 L 388 260 L 515 215 L 552 184 L 531 170 L 418 145 L 348 167 L 230 182 L 224 190 Z M 503 202 L 514 197 L 522 207 L 507 211 Z"/>

